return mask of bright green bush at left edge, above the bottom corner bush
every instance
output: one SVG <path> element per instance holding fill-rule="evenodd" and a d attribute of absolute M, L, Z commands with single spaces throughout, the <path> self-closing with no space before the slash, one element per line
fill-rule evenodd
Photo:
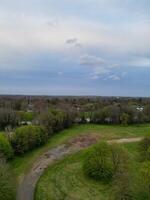
<path fill-rule="evenodd" d="M 0 154 L 7 160 L 13 157 L 13 149 L 9 143 L 7 137 L 4 134 L 0 134 Z"/>

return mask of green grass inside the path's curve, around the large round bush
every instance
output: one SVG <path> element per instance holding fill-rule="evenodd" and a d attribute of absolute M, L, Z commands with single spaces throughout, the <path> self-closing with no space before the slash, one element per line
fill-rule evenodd
<path fill-rule="evenodd" d="M 134 156 L 137 143 L 123 144 Z M 82 171 L 86 150 L 65 158 L 50 166 L 40 178 L 36 189 L 36 200 L 108 200 L 112 187 L 88 179 Z"/>

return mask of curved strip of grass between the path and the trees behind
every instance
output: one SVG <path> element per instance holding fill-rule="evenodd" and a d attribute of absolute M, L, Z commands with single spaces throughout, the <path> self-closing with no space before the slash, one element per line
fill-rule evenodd
<path fill-rule="evenodd" d="M 150 134 L 150 124 L 141 126 L 107 126 L 107 125 L 78 125 L 53 136 L 48 143 L 22 157 L 16 157 L 10 164 L 18 180 L 31 168 L 34 161 L 47 149 L 66 142 L 68 139 L 87 133 L 99 133 L 101 138 L 112 139 L 121 137 L 146 136 Z"/>

